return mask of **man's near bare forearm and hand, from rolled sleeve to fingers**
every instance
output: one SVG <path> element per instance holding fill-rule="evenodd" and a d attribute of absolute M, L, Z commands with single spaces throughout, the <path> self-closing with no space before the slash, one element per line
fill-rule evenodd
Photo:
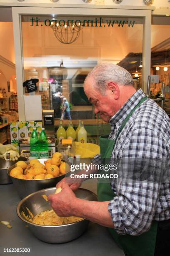
<path fill-rule="evenodd" d="M 110 201 L 95 202 L 77 198 L 67 183 L 62 183 L 61 188 L 58 194 L 48 196 L 51 207 L 58 216 L 77 216 L 105 227 L 114 228 L 108 211 Z"/>

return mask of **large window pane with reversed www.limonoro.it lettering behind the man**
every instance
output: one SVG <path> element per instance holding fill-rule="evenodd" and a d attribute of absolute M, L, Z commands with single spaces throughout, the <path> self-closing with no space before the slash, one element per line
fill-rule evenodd
<path fill-rule="evenodd" d="M 124 67 L 132 74 L 136 89 L 142 86 L 142 18 L 22 15 L 22 35 L 24 79 L 39 79 L 35 94 L 41 95 L 42 109 L 55 110 L 56 120 L 60 120 L 66 97 L 76 125 L 78 120 L 89 126 L 97 122 L 83 82 L 99 63 Z"/>

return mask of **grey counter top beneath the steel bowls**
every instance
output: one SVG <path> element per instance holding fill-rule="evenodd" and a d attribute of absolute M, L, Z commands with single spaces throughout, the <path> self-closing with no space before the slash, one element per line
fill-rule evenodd
<path fill-rule="evenodd" d="M 89 189 L 91 186 L 91 182 L 86 182 L 82 187 Z M 96 190 L 96 187 L 91 190 Z M 20 197 L 13 184 L 0 185 L 0 201 L 0 220 L 9 221 L 13 226 L 7 228 L 0 224 L 0 256 L 124 256 L 107 228 L 95 223 L 90 223 L 82 236 L 68 243 L 50 244 L 38 240 L 16 214 Z M 4 253 L 3 248 L 30 248 L 30 253 Z"/>

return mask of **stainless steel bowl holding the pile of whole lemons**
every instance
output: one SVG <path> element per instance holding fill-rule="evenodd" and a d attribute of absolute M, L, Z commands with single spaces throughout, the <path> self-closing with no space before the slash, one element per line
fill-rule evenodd
<path fill-rule="evenodd" d="M 38 159 L 40 163 L 44 163 L 47 159 Z M 64 160 L 62 160 L 64 161 Z M 26 161 L 28 164 L 29 161 Z M 11 166 L 7 170 L 7 174 L 10 176 L 10 171 L 15 167 L 15 165 Z M 30 195 L 33 192 L 36 192 L 40 189 L 45 189 L 48 187 L 55 187 L 55 185 L 65 177 L 65 174 L 60 175 L 58 177 L 50 178 L 50 179 L 18 179 L 10 176 L 13 181 L 13 184 L 18 192 L 18 195 L 21 199 Z"/>

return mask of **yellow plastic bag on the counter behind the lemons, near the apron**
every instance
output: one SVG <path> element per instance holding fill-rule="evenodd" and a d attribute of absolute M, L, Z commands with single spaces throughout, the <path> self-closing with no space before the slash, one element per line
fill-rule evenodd
<path fill-rule="evenodd" d="M 81 158 L 92 158 L 96 154 L 100 154 L 100 146 L 93 143 L 80 143 L 75 141 L 72 144 L 75 155 L 80 155 Z"/>

